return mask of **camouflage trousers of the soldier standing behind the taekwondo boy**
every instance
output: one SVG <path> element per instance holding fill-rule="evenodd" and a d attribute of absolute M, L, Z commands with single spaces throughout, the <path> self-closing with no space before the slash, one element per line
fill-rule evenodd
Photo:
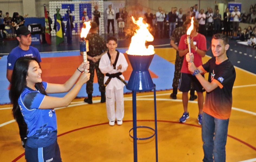
<path fill-rule="evenodd" d="M 104 86 L 104 74 L 101 73 L 101 70 L 99 69 L 99 61 L 92 62 L 90 61 L 90 79 L 88 82 L 86 82 L 86 93 L 92 94 L 93 92 L 93 78 L 94 78 L 94 69 L 96 70 L 97 78 L 98 78 L 98 84 L 99 84 L 99 91 L 100 92 L 106 92 L 105 86 Z"/>

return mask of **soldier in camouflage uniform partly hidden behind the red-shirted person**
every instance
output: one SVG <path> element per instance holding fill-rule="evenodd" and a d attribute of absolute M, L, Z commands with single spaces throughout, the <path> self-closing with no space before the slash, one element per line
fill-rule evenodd
<path fill-rule="evenodd" d="M 182 20 L 183 22 L 186 21 L 186 15 L 182 16 Z M 179 81 L 180 81 L 180 70 L 182 68 L 182 63 L 183 63 L 183 59 L 184 56 L 180 57 L 179 56 L 179 51 L 178 51 L 178 46 L 175 44 L 176 42 L 179 43 L 180 42 L 180 38 L 182 35 L 187 33 L 187 25 L 190 24 L 183 24 L 183 26 L 180 26 L 178 28 L 176 28 L 172 35 L 171 35 L 171 41 L 170 41 L 170 45 L 176 49 L 176 59 L 175 59 L 175 71 L 174 71 L 174 78 L 173 78 L 173 93 L 171 93 L 170 97 L 172 99 L 177 99 L 177 93 L 178 93 L 178 86 L 179 86 Z M 193 101 L 197 98 L 197 96 L 195 95 L 195 89 L 193 88 L 193 84 L 191 84 L 191 89 L 190 89 L 190 98 L 189 100 Z"/>

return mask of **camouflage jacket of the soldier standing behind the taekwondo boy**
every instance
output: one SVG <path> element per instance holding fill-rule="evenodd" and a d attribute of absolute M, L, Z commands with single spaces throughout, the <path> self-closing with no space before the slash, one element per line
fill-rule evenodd
<path fill-rule="evenodd" d="M 98 33 L 89 33 L 86 39 L 89 41 L 89 52 L 87 52 L 89 56 L 98 56 L 108 50 L 105 39 L 99 36 Z"/>

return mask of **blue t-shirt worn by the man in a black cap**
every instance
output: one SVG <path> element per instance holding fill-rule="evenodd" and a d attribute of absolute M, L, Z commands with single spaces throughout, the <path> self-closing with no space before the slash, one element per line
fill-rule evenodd
<path fill-rule="evenodd" d="M 36 58 L 38 62 L 41 62 L 40 53 L 37 48 L 29 46 L 29 49 L 25 51 L 21 49 L 19 46 L 17 46 L 14 49 L 12 49 L 12 51 L 7 56 L 7 69 L 13 70 L 14 64 L 17 61 L 17 59 L 24 56 Z"/>

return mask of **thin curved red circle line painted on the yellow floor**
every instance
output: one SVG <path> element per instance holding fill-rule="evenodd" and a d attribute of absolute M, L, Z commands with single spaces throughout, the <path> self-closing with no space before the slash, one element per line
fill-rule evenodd
<path fill-rule="evenodd" d="M 138 122 L 154 122 L 155 120 L 137 120 Z M 132 120 L 123 120 L 123 122 L 132 122 Z M 174 121 L 168 121 L 168 120 L 157 120 L 157 122 L 167 122 L 167 123 L 176 123 L 176 124 L 185 124 L 185 125 L 188 125 L 188 126 L 194 126 L 194 127 L 199 127 L 201 128 L 201 126 L 199 125 L 195 125 L 195 124 L 189 124 L 189 123 L 180 123 L 180 122 L 174 122 Z M 57 137 L 60 137 L 60 136 L 63 136 L 65 134 L 68 134 L 68 133 L 72 133 L 74 131 L 77 131 L 77 130 L 81 130 L 81 129 L 86 129 L 86 128 L 90 128 L 90 127 L 95 127 L 95 126 L 100 126 L 100 125 L 104 125 L 104 124 L 108 124 L 107 123 L 99 123 L 99 124 L 94 124 L 94 125 L 90 125 L 90 126 L 85 126 L 85 127 L 81 127 L 81 128 L 77 128 L 77 129 L 73 129 L 73 130 L 70 130 L 70 131 L 67 131 L 67 132 L 64 132 L 64 133 L 61 133 L 59 134 Z M 234 140 L 237 140 L 243 144 L 245 144 L 246 146 L 250 147 L 251 149 L 255 150 L 256 151 L 256 147 L 250 145 L 249 143 L 246 143 L 245 141 L 242 141 L 234 136 L 231 136 L 231 135 L 228 135 L 228 137 L 234 139 Z M 16 157 L 14 160 L 12 160 L 12 162 L 15 162 L 15 161 L 18 161 L 20 158 L 22 158 L 23 156 L 25 155 L 25 152 L 20 154 L 20 156 Z"/>

